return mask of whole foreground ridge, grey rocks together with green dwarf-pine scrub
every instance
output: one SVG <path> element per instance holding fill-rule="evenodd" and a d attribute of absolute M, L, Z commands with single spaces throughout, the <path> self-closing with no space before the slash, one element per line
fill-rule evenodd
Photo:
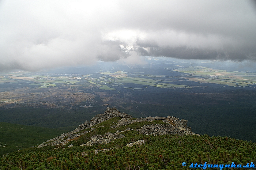
<path fill-rule="evenodd" d="M 192 163 L 256 163 L 256 143 L 196 135 L 186 124 L 187 120 L 170 116 L 132 118 L 107 108 L 61 140 L 58 136 L 45 146 L 0 156 L 0 169 L 171 170 L 189 169 Z M 172 129 L 168 131 L 168 127 Z M 85 134 L 74 137 L 79 133 Z M 64 140 L 68 143 L 60 144 Z"/>

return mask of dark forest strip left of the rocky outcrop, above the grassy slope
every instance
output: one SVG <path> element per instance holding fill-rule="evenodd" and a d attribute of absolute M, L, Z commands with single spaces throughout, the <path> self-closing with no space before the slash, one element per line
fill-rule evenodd
<path fill-rule="evenodd" d="M 33 125 L 44 128 L 58 128 L 72 131 L 96 114 L 104 112 L 105 107 L 78 107 L 75 110 L 16 107 L 0 110 L 0 122 L 20 125 Z"/>

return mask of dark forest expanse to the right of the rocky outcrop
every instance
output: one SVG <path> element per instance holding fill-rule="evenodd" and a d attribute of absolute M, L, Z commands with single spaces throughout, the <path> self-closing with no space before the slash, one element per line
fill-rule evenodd
<path fill-rule="evenodd" d="M 127 104 L 128 105 L 128 104 Z M 125 105 L 123 105 L 125 106 Z M 134 104 L 146 116 L 175 116 L 188 120 L 192 132 L 209 136 L 229 136 L 256 142 L 255 107 L 203 105 Z"/>

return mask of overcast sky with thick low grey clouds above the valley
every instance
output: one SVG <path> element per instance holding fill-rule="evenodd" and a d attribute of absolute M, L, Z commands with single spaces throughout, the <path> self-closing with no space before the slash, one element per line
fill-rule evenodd
<path fill-rule="evenodd" d="M 0 0 L 0 72 L 146 57 L 256 61 L 246 0 Z"/>

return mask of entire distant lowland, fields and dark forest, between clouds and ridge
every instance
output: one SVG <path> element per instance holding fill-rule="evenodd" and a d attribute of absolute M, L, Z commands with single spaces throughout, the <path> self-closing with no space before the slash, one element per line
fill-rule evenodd
<path fill-rule="evenodd" d="M 192 132 L 202 135 L 256 141 L 256 72 L 154 62 L 98 71 L 2 73 L 0 122 L 67 132 L 114 106 L 134 117 L 184 118 Z"/>

